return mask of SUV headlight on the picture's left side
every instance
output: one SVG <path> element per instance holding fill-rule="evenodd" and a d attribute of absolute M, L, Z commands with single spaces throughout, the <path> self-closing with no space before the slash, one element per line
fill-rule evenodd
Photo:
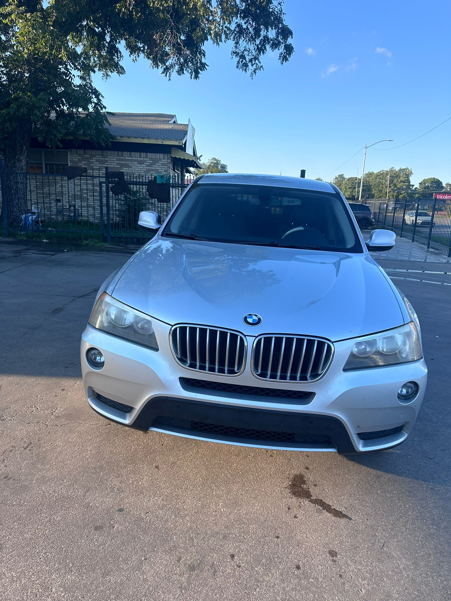
<path fill-rule="evenodd" d="M 150 317 L 127 307 L 106 292 L 97 299 L 89 323 L 108 334 L 158 350 Z"/>

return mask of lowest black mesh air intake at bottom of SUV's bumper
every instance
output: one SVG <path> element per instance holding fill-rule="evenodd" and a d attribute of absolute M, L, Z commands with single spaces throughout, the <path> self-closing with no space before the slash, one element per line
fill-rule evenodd
<path fill-rule="evenodd" d="M 177 430 L 185 430 L 194 434 L 204 434 L 209 436 L 218 436 L 219 438 L 243 438 L 251 441 L 272 441 L 272 442 L 304 442 L 307 444 L 329 443 L 330 438 L 325 435 L 316 434 L 295 434 L 294 432 L 271 432 L 268 430 L 253 430 L 248 428 L 237 428 L 234 426 L 219 426 L 218 424 L 206 424 L 201 421 L 189 421 L 188 419 L 176 419 L 170 417 L 160 417 L 153 424 L 153 427 L 169 427 Z"/>

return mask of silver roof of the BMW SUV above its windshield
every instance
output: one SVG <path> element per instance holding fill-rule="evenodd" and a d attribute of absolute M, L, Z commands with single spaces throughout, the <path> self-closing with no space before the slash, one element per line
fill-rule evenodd
<path fill-rule="evenodd" d="M 280 188 L 299 188 L 301 190 L 314 190 L 331 192 L 335 189 L 328 182 L 307 180 L 304 177 L 290 177 L 289 175 L 263 175 L 255 173 L 206 173 L 200 176 L 200 183 L 245 184 L 254 186 L 279 186 Z"/>

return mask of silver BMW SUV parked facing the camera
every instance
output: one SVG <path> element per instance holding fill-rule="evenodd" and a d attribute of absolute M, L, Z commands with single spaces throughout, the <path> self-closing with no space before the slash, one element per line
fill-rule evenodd
<path fill-rule="evenodd" d="M 90 406 L 140 430 L 278 449 L 393 447 L 426 388 L 420 325 L 326 182 L 201 175 L 100 287 Z"/>

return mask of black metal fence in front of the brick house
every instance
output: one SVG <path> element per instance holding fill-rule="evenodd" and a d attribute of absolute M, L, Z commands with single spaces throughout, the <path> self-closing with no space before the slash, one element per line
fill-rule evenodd
<path fill-rule="evenodd" d="M 5 174 L 0 163 L 2 222 L 5 236 L 41 240 L 89 240 L 141 245 L 152 231 L 138 225 L 140 211 L 156 211 L 161 222 L 186 185 L 171 182 L 164 201 L 150 198 L 147 184 L 153 174 L 124 174 L 127 191 L 113 194 L 114 179 L 108 169 L 88 171 L 71 180 L 63 174 L 19 174 L 26 178 L 26 198 L 20 210 L 28 222 L 14 222 L 5 194 Z"/>

